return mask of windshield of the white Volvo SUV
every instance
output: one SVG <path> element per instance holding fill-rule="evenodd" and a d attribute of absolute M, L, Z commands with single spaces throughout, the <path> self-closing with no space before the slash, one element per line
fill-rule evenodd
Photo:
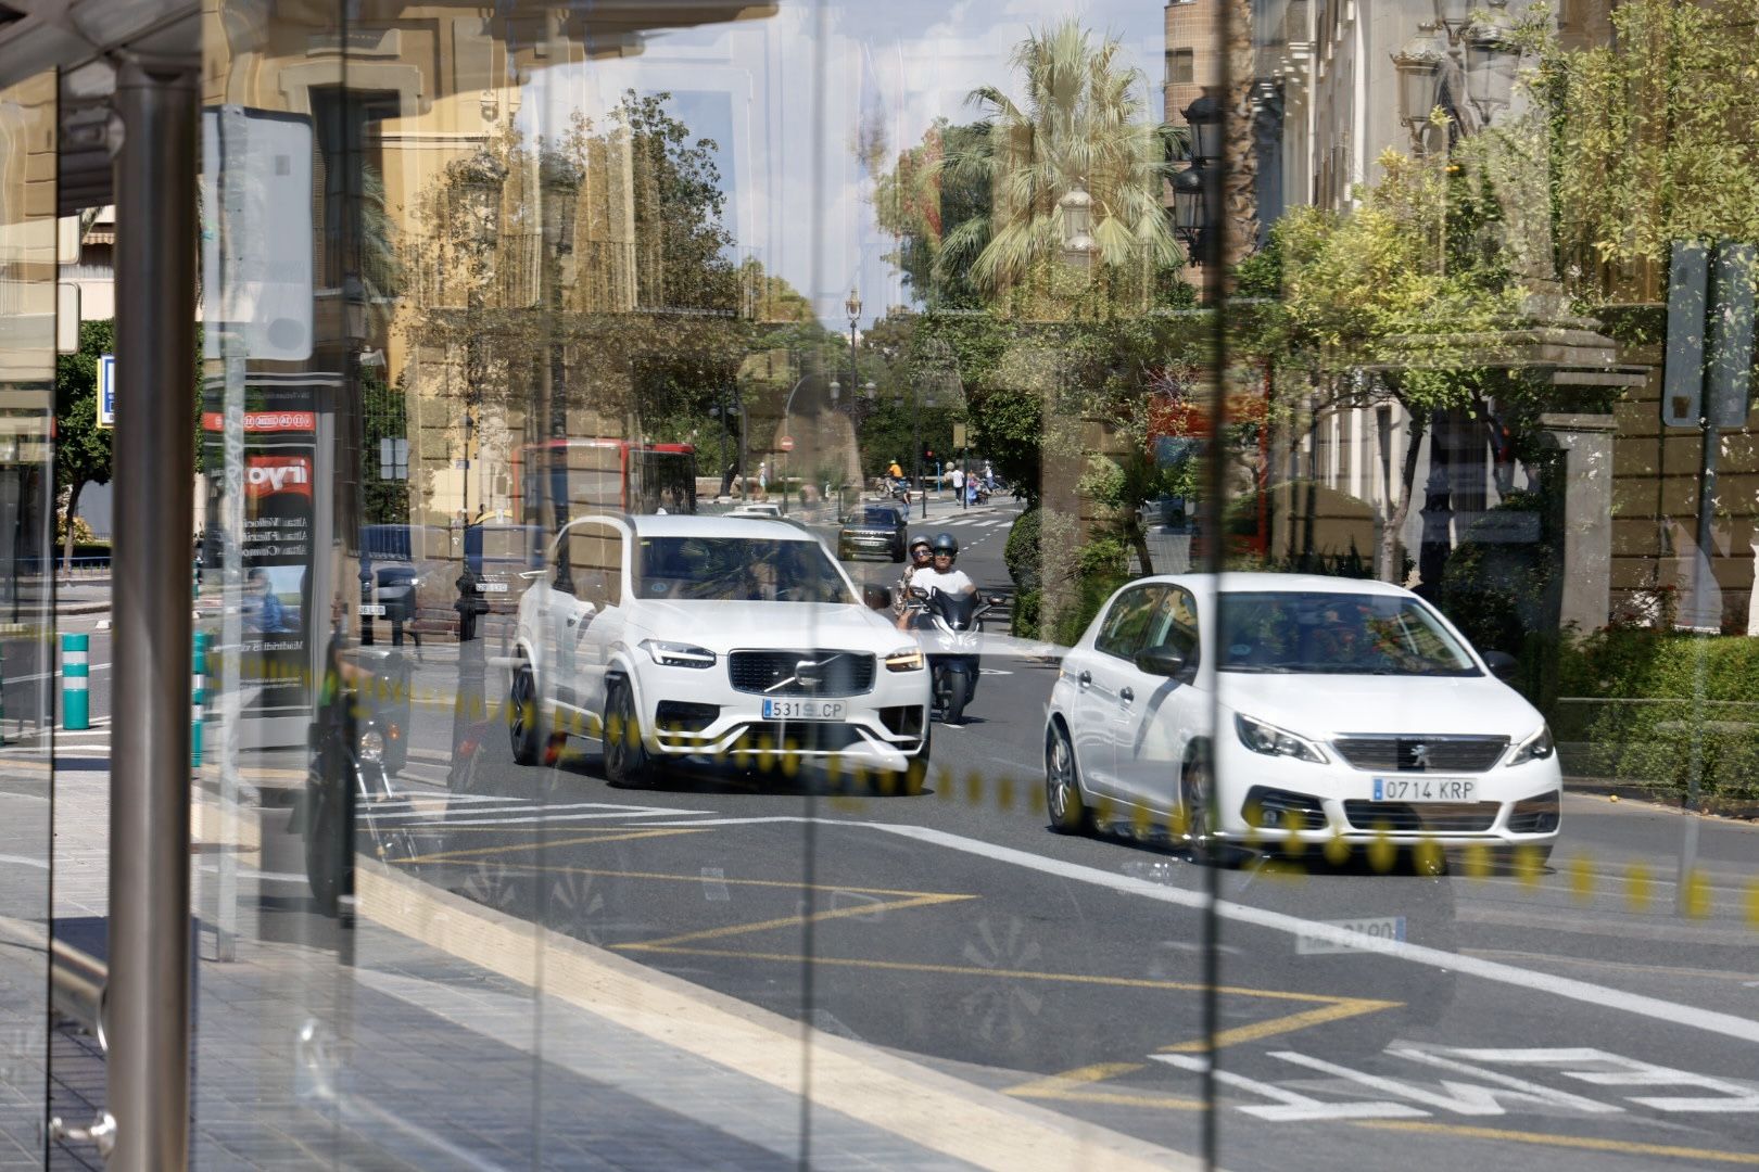
<path fill-rule="evenodd" d="M 737 603 L 855 603 L 818 541 L 642 538 L 640 597 Z"/>

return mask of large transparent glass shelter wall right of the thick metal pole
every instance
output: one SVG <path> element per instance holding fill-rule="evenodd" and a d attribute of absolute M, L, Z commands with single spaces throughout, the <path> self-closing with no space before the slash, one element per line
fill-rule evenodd
<path fill-rule="evenodd" d="M 285 1126 L 1750 1147 L 1743 9 L 234 7 L 204 891 Z"/>

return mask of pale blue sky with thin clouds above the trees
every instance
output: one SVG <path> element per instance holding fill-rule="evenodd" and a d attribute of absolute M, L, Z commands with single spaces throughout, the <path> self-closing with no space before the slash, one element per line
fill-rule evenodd
<path fill-rule="evenodd" d="M 855 156 L 862 109 L 883 109 L 894 151 L 936 116 L 967 121 L 974 86 L 1015 88 L 1008 54 L 1027 30 L 1071 16 L 1122 40 L 1157 114 L 1157 0 L 781 0 L 770 19 L 663 33 L 640 56 L 540 76 L 522 116 L 598 114 L 630 86 L 672 93 L 679 118 L 718 142 L 741 250 L 807 293 L 828 325 L 858 285 L 871 320 L 902 286 Z"/>

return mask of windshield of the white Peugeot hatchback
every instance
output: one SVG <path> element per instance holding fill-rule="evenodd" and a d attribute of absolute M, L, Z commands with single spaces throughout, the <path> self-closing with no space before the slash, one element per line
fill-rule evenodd
<path fill-rule="evenodd" d="M 1481 675 L 1423 603 L 1388 594 L 1228 592 L 1223 671 L 1310 675 Z"/>

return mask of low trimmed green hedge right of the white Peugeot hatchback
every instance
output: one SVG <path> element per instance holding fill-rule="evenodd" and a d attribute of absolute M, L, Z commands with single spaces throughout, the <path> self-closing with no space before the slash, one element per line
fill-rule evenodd
<path fill-rule="evenodd" d="M 1683 794 L 1696 742 L 1701 794 L 1759 798 L 1759 640 L 1609 627 L 1560 647 L 1557 692 L 1571 775 Z"/>

